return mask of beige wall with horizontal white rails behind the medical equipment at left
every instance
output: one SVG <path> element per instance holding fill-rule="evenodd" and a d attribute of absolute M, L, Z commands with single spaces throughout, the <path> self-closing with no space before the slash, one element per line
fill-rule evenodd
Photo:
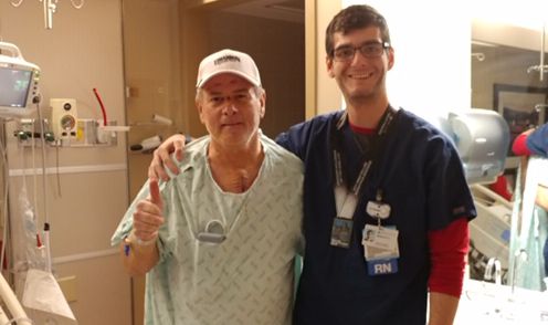
<path fill-rule="evenodd" d="M 44 117 L 50 116 L 49 99 L 63 97 L 76 99 L 78 118 L 101 118 L 92 92 L 97 87 L 108 118 L 125 124 L 120 1 L 86 1 L 81 10 L 60 1 L 53 30 L 44 29 L 39 1 L 23 1 L 19 8 L 0 1 L 0 36 L 41 67 Z M 51 223 L 54 274 L 74 279 L 71 307 L 80 324 L 130 324 L 130 281 L 109 244 L 128 205 L 126 136 L 107 147 L 48 146 L 44 196 L 42 177 L 30 175 L 32 150 L 18 147 L 10 136 L 14 128 L 14 123 L 8 124 L 11 211 L 18 210 L 22 175 L 28 174 L 30 202 L 38 201 L 38 227 L 46 219 Z M 41 169 L 40 147 L 34 160 Z"/>

